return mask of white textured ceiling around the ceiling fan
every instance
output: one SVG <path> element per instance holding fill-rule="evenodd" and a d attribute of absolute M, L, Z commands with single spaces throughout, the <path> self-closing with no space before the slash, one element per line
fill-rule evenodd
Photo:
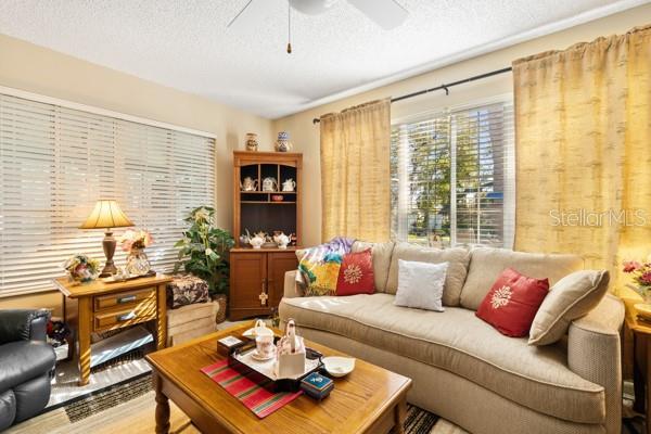
<path fill-rule="evenodd" d="M 337 0 L 293 13 L 289 55 L 286 0 L 253 1 L 243 29 L 247 0 L 0 0 L 0 33 L 273 118 L 647 2 L 397 0 L 409 17 L 383 30 Z"/>

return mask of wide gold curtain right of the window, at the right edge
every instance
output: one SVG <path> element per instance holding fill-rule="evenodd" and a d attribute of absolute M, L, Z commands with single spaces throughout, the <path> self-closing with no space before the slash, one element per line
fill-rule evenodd
<path fill-rule="evenodd" d="M 513 63 L 515 248 L 617 271 L 651 251 L 651 26 Z"/>

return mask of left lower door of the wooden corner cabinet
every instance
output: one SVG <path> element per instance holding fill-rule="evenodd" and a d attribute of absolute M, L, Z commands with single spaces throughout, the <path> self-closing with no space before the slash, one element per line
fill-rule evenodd
<path fill-rule="evenodd" d="M 267 308 L 267 305 L 261 305 L 259 298 L 266 289 L 267 255 L 257 252 L 231 252 L 230 261 L 229 303 L 231 314 L 238 309 L 258 310 Z M 254 311 L 251 314 L 257 315 Z M 241 317 L 240 315 L 235 316 Z"/>

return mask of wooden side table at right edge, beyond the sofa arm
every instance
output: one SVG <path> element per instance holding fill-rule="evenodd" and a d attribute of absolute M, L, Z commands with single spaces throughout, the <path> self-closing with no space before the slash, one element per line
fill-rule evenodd
<path fill-rule="evenodd" d="M 623 297 L 626 305 L 626 328 L 633 332 L 633 381 L 635 387 L 635 403 L 633 409 L 646 414 L 647 434 L 651 434 L 651 321 L 638 320 L 637 309 L 634 307 L 639 299 Z"/>

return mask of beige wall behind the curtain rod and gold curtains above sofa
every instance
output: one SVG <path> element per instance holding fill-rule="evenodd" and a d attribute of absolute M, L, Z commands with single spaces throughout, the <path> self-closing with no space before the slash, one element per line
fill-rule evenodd
<path fill-rule="evenodd" d="M 384 86 L 352 98 L 340 100 L 292 116 L 277 119 L 275 130 L 288 130 L 292 136 L 294 150 L 304 153 L 304 216 L 303 239 L 306 245 L 321 241 L 321 182 L 319 168 L 319 126 L 312 118 L 322 114 L 341 111 L 350 105 L 386 97 L 398 97 L 445 82 L 463 79 L 473 75 L 510 66 L 515 59 L 547 50 L 564 49 L 573 43 L 589 41 L 599 36 L 622 34 L 631 27 L 651 22 L 651 4 L 638 7 L 605 18 L 597 20 L 563 31 L 523 42 L 507 49 L 452 64 L 420 76 Z M 455 87 L 450 95 L 436 92 L 397 102 L 392 105 L 394 119 L 421 112 L 443 108 L 465 102 L 477 101 L 511 92 L 512 76 L 503 74 L 485 80 Z M 336 180 L 332 180 L 336 182 Z"/>

